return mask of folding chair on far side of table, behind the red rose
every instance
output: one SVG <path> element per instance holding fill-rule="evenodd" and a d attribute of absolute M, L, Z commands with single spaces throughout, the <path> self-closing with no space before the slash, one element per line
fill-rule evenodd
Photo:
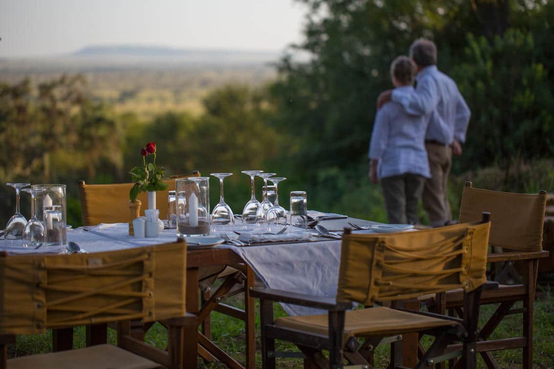
<path fill-rule="evenodd" d="M 170 176 L 170 180 L 166 180 L 168 189 L 165 191 L 157 191 L 158 199 L 167 199 L 168 191 L 175 190 L 175 179 L 188 178 L 191 176 L 200 176 L 199 171 L 194 171 L 188 175 Z M 100 223 L 117 223 L 129 222 L 129 190 L 133 183 L 121 184 L 98 184 L 88 185 L 84 180 L 79 181 L 79 200 L 81 203 L 81 214 L 83 225 L 98 225 Z M 141 193 L 137 196 L 143 204 L 146 204 L 146 194 Z M 156 207 L 160 210 L 160 215 L 167 214 L 168 202 L 157 201 Z M 141 214 L 144 215 L 144 210 L 141 208 Z M 209 309 L 203 309 L 204 314 L 202 321 L 202 331 L 208 339 L 211 339 L 211 311 L 217 310 L 220 313 L 233 316 L 234 318 L 246 321 L 248 319 L 245 310 L 234 308 L 223 303 L 224 299 L 240 292 L 246 291 L 245 278 L 247 269 L 244 265 L 238 266 L 209 266 L 199 268 L 199 280 L 201 289 L 202 306 L 208 306 Z M 239 270 L 242 273 L 239 273 Z M 224 282 L 217 288 L 216 291 L 211 291 L 211 286 L 217 278 L 225 278 Z M 237 289 L 237 285 L 240 287 Z M 244 294 L 244 304 L 249 305 L 249 298 Z M 151 324 L 142 324 L 139 321 L 132 321 L 132 332 L 134 337 L 141 339 L 145 332 L 150 329 Z M 90 327 L 87 330 L 90 331 Z M 69 332 L 65 332 L 65 336 L 69 336 Z M 206 350 L 199 350 L 204 360 L 212 361 L 213 357 L 206 355 Z M 250 360 L 253 362 L 253 360 Z"/>

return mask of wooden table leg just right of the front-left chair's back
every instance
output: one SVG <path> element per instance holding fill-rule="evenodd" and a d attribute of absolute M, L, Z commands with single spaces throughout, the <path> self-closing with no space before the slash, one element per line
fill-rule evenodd
<path fill-rule="evenodd" d="M 198 268 L 187 268 L 187 313 L 198 313 Z M 184 333 L 183 365 L 185 369 L 196 369 L 198 365 L 197 330 Z"/>

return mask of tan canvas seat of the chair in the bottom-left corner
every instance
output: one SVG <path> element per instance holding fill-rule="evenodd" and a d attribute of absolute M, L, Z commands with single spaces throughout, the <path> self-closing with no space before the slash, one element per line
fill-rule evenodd
<path fill-rule="evenodd" d="M 113 345 L 96 345 L 8 360 L 8 369 L 155 369 L 160 364 Z"/>

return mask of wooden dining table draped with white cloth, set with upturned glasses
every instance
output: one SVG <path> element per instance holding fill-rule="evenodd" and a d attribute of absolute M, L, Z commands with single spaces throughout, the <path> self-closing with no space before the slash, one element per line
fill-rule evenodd
<path fill-rule="evenodd" d="M 324 225 L 331 232 L 343 231 L 352 224 L 368 227 L 368 230 L 358 232 L 375 232 L 372 226 L 382 225 L 378 222 L 355 219 L 347 216 L 322 218 L 314 222 Z M 311 224 L 314 225 L 313 223 Z M 339 237 L 322 236 L 312 228 L 288 226 L 288 230 L 280 236 L 270 236 L 270 240 L 244 242 L 247 240 L 238 232 L 230 232 L 230 240 L 219 242 L 202 242 L 205 237 L 187 237 L 187 313 L 198 314 L 201 311 L 198 293 L 198 270 L 206 266 L 243 265 L 246 293 L 254 287 L 255 279 L 269 288 L 315 295 L 319 297 L 335 297 L 338 283 L 338 268 L 340 265 L 341 239 Z M 237 227 L 235 227 L 235 230 Z M 302 235 L 295 239 L 294 233 Z M 248 232 L 243 232 L 248 233 Z M 271 233 L 271 232 L 267 232 Z M 306 233 L 308 235 L 306 236 Z M 213 238 L 223 235 L 213 234 Z M 80 252 L 103 252 L 121 250 L 124 248 L 141 247 L 170 243 L 176 241 L 176 230 L 164 229 L 157 237 L 135 238 L 128 232 L 128 224 L 99 224 L 96 226 L 68 229 L 68 242 L 79 246 Z M 223 241 L 223 242 L 222 242 Z M 238 242 L 235 242 L 238 241 Z M 260 242 L 261 241 L 261 242 Z M 0 252 L 7 254 L 64 252 L 65 248 L 38 248 L 32 250 L 23 248 L 20 240 L 0 240 Z M 232 368 L 255 367 L 255 326 L 254 299 L 246 297 L 245 311 L 225 306 L 225 313 L 245 321 L 246 362 L 243 364 L 225 353 L 204 332 L 198 332 L 196 340 L 184 342 L 184 352 L 187 357 L 185 367 L 196 368 L 198 355 L 207 360 L 217 359 Z M 320 310 L 305 306 L 283 304 L 283 309 L 289 315 L 307 315 L 322 313 Z M 198 325 L 202 324 L 198 320 Z M 71 349 L 71 332 L 55 332 L 53 346 L 55 350 Z M 99 344 L 106 340 L 105 326 L 90 326 L 87 330 L 87 344 Z M 69 347 L 68 347 L 69 346 Z"/>

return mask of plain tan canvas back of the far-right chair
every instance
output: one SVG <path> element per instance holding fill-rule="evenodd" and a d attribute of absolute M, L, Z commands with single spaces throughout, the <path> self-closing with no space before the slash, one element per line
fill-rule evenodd
<path fill-rule="evenodd" d="M 483 190 L 466 183 L 461 198 L 460 222 L 479 220 L 481 212 L 491 216 L 493 246 L 518 251 L 541 251 L 546 194 L 527 195 Z"/>

